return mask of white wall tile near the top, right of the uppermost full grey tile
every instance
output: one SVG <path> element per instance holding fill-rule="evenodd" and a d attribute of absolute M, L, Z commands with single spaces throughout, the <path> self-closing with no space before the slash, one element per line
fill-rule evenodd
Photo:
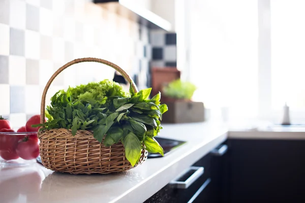
<path fill-rule="evenodd" d="M 53 14 L 50 10 L 40 8 L 40 33 L 46 36 L 52 36 L 53 33 Z"/>

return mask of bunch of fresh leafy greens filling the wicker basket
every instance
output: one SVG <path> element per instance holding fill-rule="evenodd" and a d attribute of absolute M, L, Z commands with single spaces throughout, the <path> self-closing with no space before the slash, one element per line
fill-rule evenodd
<path fill-rule="evenodd" d="M 126 158 L 134 166 L 141 149 L 163 154 L 154 140 L 162 126 L 162 114 L 166 105 L 160 105 L 159 92 L 149 99 L 151 88 L 130 93 L 115 82 L 104 80 L 88 83 L 67 91 L 60 90 L 51 98 L 46 108 L 48 121 L 41 130 L 66 128 L 73 136 L 78 130 L 92 130 L 93 136 L 105 146 L 123 143 Z"/>

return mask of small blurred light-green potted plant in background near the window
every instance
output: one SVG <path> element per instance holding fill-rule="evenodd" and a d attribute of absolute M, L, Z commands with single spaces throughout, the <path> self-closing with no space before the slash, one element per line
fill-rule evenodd
<path fill-rule="evenodd" d="M 191 99 L 196 86 L 190 82 L 183 82 L 180 79 L 172 81 L 163 88 L 163 93 L 165 96 L 171 98 L 180 98 L 180 99 Z"/>

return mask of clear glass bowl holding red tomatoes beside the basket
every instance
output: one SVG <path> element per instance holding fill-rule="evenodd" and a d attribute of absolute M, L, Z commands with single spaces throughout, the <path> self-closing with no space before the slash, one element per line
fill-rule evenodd
<path fill-rule="evenodd" d="M 27 165 L 39 156 L 37 132 L 0 132 L 0 163 Z"/>

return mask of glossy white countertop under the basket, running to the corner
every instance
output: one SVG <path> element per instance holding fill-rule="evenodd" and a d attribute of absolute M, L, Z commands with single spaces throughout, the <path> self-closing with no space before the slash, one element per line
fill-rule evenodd
<path fill-rule="evenodd" d="M 109 175 L 53 173 L 35 163 L 0 169 L 0 202 L 143 202 L 227 139 L 214 123 L 167 124 L 160 137 L 187 141 L 163 158 Z"/>

